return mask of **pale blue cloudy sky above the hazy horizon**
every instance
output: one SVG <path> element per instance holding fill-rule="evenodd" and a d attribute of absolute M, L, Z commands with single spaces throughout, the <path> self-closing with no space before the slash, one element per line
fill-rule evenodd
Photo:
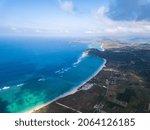
<path fill-rule="evenodd" d="M 0 0 L 0 36 L 150 36 L 150 0 Z"/>

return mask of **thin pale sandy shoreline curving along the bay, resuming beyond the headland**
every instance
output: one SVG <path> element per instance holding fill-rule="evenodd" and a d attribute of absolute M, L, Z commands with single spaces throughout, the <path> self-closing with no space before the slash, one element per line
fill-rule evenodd
<path fill-rule="evenodd" d="M 102 51 L 105 51 L 105 49 L 103 48 L 103 43 L 100 44 L 101 48 L 102 48 Z M 44 103 L 44 104 L 41 104 L 41 105 L 38 105 L 37 107 L 31 109 L 31 110 L 27 110 L 27 111 L 24 111 L 23 113 L 34 113 L 35 111 L 43 108 L 43 107 L 46 107 L 47 105 L 53 103 L 53 102 L 56 102 L 57 100 L 61 99 L 61 98 L 64 98 L 66 96 L 69 96 L 69 95 L 72 95 L 72 94 L 75 94 L 76 92 L 78 92 L 79 88 L 81 88 L 83 85 L 85 85 L 87 82 L 89 82 L 90 80 L 92 80 L 98 73 L 100 73 L 100 71 L 106 66 L 106 63 L 107 63 L 107 60 L 102 58 L 103 61 L 103 64 L 98 68 L 98 70 L 93 74 L 91 75 L 87 80 L 85 80 L 83 83 L 81 83 L 80 85 L 74 87 L 72 90 L 60 95 L 59 97 L 49 101 L 48 103 Z"/>

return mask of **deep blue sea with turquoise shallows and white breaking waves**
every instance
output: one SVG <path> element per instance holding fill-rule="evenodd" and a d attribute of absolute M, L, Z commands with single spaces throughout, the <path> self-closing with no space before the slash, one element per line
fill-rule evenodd
<path fill-rule="evenodd" d="M 67 38 L 0 38 L 0 112 L 45 104 L 94 75 L 104 59 L 86 55 L 98 44 Z"/>

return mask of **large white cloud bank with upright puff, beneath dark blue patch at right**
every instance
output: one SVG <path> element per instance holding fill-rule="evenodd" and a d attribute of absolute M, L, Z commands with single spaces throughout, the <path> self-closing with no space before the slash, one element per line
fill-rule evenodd
<path fill-rule="evenodd" d="M 99 28 L 95 30 L 100 34 L 149 34 L 150 22 L 148 21 L 115 21 L 110 19 L 106 13 L 109 9 L 105 6 L 99 7 L 94 11 L 94 17 L 98 21 Z"/>

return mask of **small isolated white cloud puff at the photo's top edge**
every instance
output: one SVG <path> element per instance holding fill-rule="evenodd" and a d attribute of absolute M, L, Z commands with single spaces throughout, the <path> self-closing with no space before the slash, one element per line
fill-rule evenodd
<path fill-rule="evenodd" d="M 59 4 L 62 10 L 72 13 L 74 11 L 74 5 L 71 0 L 59 0 Z"/>

